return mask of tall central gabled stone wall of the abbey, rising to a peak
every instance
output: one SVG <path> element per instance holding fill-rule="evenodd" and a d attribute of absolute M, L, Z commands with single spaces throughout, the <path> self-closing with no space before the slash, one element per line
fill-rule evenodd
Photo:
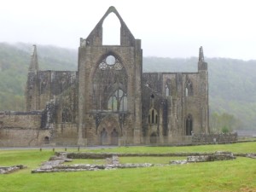
<path fill-rule="evenodd" d="M 111 13 L 115 14 L 121 23 L 120 45 L 102 44 L 102 23 Z M 108 56 L 115 58 L 114 64 L 108 63 Z M 114 133 L 119 137 L 124 134 L 122 132 L 124 128 L 127 137 L 133 138 L 129 143 L 141 143 L 141 77 L 141 41 L 132 36 L 117 10 L 111 7 L 90 35 L 86 39 L 81 38 L 80 41 L 79 143 L 81 145 L 85 140 L 89 145 L 105 143 L 104 139 L 100 140 L 98 128 L 102 128 L 102 131 L 105 128 L 107 136 Z M 127 108 L 123 111 L 107 108 L 109 98 L 116 90 L 122 90 L 127 96 Z M 109 125 L 105 124 L 106 121 Z M 109 142 L 106 144 L 112 143 L 111 139 L 107 141 Z"/>

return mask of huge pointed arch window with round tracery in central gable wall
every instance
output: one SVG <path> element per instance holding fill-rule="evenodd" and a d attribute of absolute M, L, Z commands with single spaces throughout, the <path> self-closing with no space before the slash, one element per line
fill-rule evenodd
<path fill-rule="evenodd" d="M 93 108 L 127 111 L 128 75 L 123 63 L 113 52 L 103 55 L 93 76 Z"/>

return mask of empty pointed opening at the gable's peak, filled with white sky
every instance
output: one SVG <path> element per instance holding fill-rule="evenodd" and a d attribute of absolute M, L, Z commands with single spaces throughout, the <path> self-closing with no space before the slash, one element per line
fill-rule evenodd
<path fill-rule="evenodd" d="M 109 14 L 102 25 L 102 44 L 120 45 L 120 27 L 118 17 L 113 13 Z"/>

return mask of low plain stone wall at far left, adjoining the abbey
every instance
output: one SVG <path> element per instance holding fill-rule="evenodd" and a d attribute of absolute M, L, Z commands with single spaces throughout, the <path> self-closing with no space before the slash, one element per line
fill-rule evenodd
<path fill-rule="evenodd" d="M 0 146 L 43 145 L 49 131 L 41 130 L 41 111 L 0 112 Z"/>

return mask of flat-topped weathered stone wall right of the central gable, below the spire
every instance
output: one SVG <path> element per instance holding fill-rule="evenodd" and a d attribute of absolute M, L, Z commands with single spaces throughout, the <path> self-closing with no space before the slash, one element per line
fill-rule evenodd
<path fill-rule="evenodd" d="M 188 84 L 191 90 L 186 92 Z M 167 91 L 167 92 L 166 92 Z M 143 73 L 143 137 L 156 132 L 156 143 L 166 143 L 161 137 L 190 136 L 208 133 L 207 74 L 202 73 Z M 148 123 L 150 108 L 156 110 L 159 121 Z M 186 131 L 186 119 L 191 117 L 193 132 Z M 152 140 L 152 139 L 151 139 Z M 150 141 L 150 139 L 148 139 Z M 185 141 L 185 140 L 180 140 Z M 149 142 L 150 143 L 150 142 Z"/>

